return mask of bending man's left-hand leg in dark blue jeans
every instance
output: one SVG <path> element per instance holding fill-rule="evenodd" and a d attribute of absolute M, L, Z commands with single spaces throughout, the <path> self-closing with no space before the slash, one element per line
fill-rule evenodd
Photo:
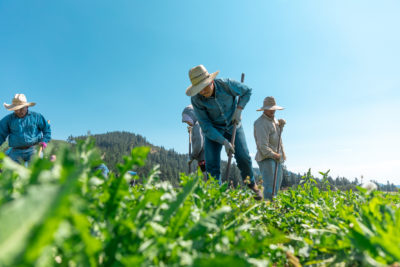
<path fill-rule="evenodd" d="M 204 149 L 206 157 L 206 170 L 221 184 L 221 149 L 220 143 L 214 142 L 207 137 L 204 138 Z"/>

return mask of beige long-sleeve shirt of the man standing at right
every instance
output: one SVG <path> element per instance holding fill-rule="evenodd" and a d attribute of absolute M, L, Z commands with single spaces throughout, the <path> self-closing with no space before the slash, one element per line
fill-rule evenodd
<path fill-rule="evenodd" d="M 261 115 L 254 122 L 254 138 L 256 139 L 257 145 L 256 161 L 273 158 L 273 152 L 277 153 L 279 132 L 280 127 L 278 122 L 275 119 L 271 119 L 265 114 Z M 285 154 L 282 140 L 280 152 L 280 154 L 282 155 Z"/>

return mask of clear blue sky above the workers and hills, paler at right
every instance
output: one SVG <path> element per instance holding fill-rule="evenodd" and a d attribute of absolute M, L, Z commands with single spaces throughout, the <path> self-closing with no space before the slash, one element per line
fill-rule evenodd
<path fill-rule="evenodd" d="M 400 184 L 399 14 L 397 0 L 2 0 L 0 102 L 26 94 L 55 139 L 124 130 L 184 153 L 188 70 L 245 72 L 252 156 L 272 95 L 289 170 Z"/>

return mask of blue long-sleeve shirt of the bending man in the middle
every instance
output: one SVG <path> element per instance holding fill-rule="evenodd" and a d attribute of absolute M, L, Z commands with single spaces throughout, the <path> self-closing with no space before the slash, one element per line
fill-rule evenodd
<path fill-rule="evenodd" d="M 240 96 L 239 106 L 244 108 L 250 100 L 251 88 L 230 79 L 215 79 L 214 85 L 213 96 L 204 97 L 197 94 L 191 97 L 191 101 L 205 136 L 223 144 L 223 133 L 231 134 L 233 130 L 232 118 L 237 107 L 236 96 Z"/>

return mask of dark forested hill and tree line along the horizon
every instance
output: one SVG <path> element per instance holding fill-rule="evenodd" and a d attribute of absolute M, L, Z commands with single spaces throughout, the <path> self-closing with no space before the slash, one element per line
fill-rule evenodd
<path fill-rule="evenodd" d="M 140 177 L 146 177 L 155 165 L 159 165 L 161 171 L 160 179 L 164 181 L 170 181 L 173 185 L 178 185 L 180 182 L 180 173 L 188 172 L 188 154 L 180 154 L 173 149 L 166 149 L 162 146 L 155 146 L 148 142 L 145 137 L 130 132 L 115 131 L 105 134 L 91 135 L 90 133 L 88 133 L 88 135 L 76 137 L 69 136 L 67 142 L 70 144 L 74 144 L 77 140 L 86 139 L 89 135 L 94 138 L 96 146 L 99 148 L 101 153 L 104 154 L 104 162 L 106 163 L 108 168 L 114 173 L 118 174 L 118 170 L 116 169 L 117 163 L 121 163 L 123 156 L 129 155 L 131 150 L 137 146 L 148 146 L 151 148 L 146 165 L 144 167 L 138 168 L 137 170 L 134 170 Z M 62 142 L 58 140 L 54 140 L 51 143 L 52 146 L 55 148 L 58 148 L 62 145 Z M 0 147 L 0 151 L 4 152 L 7 148 L 8 144 L 7 142 L 5 142 Z M 221 177 L 223 182 L 225 182 L 226 165 L 226 161 L 221 162 Z M 196 167 L 197 162 L 193 162 L 191 169 L 195 170 Z M 258 168 L 254 168 L 254 174 L 256 181 L 258 183 L 262 183 L 261 173 Z M 301 183 L 302 179 L 304 179 L 305 176 L 306 173 L 294 173 L 287 170 L 287 168 L 284 166 L 282 187 L 288 188 L 297 186 Z M 235 186 L 243 186 L 240 171 L 235 163 L 233 163 L 231 166 L 230 178 Z M 363 182 L 358 178 L 350 181 L 346 177 L 333 178 L 329 175 L 326 175 L 324 181 L 322 178 L 314 179 L 317 182 L 318 187 L 322 188 L 325 186 L 326 183 L 329 183 L 332 190 L 357 190 L 356 186 L 360 186 Z M 375 180 L 373 180 L 372 182 L 374 182 L 378 186 L 378 189 L 381 191 L 392 192 L 398 190 L 398 188 L 389 181 L 387 181 L 386 184 L 380 184 Z"/>

